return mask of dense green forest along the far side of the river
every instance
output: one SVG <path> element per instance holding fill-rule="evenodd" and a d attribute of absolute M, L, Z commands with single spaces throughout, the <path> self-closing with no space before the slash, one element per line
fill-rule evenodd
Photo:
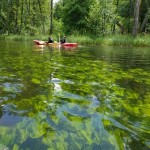
<path fill-rule="evenodd" d="M 1 0 L 0 34 L 147 34 L 150 0 Z"/>

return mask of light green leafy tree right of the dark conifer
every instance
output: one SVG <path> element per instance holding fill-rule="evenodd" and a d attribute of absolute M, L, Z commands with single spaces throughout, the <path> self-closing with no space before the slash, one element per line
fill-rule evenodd
<path fill-rule="evenodd" d="M 113 1 L 95 1 L 90 7 L 87 26 L 92 35 L 110 34 L 115 22 L 115 6 Z"/>

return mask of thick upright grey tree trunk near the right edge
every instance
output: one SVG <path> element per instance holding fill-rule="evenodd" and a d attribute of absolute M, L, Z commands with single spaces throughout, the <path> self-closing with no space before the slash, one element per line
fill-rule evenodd
<path fill-rule="evenodd" d="M 132 35 L 134 37 L 136 37 L 137 32 L 138 32 L 140 4 L 141 4 L 141 0 L 135 0 L 135 6 L 134 6 L 134 24 L 133 24 L 133 31 L 132 31 Z"/>

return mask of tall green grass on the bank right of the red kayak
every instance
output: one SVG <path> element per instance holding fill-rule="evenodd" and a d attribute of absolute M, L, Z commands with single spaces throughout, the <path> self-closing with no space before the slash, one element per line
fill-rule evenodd
<path fill-rule="evenodd" d="M 70 41 L 78 42 L 80 44 L 96 44 L 96 45 L 109 45 L 109 46 L 133 46 L 143 47 L 150 46 L 150 35 L 137 36 L 136 38 L 131 35 L 107 35 L 100 37 L 89 36 L 70 36 Z"/>

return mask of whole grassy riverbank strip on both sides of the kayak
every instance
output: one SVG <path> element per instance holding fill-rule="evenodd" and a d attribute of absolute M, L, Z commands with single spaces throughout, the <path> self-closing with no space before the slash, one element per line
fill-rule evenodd
<path fill-rule="evenodd" d="M 58 41 L 58 36 L 52 36 L 55 41 Z M 34 39 L 44 40 L 48 39 L 48 35 L 38 36 L 23 36 L 23 35 L 1 35 L 0 40 L 15 40 L 15 41 L 31 41 Z M 94 45 L 108 45 L 108 46 L 129 46 L 129 47 L 150 47 L 150 35 L 139 35 L 133 38 L 130 35 L 108 35 L 100 37 L 90 37 L 83 35 L 67 36 L 68 42 L 77 42 L 79 44 L 94 44 Z"/>

